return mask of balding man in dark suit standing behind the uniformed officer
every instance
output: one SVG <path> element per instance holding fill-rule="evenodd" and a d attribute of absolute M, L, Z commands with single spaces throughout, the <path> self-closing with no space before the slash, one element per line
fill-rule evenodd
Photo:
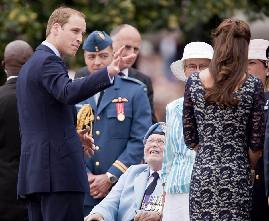
<path fill-rule="evenodd" d="M 110 37 L 113 40 L 113 53 L 116 53 L 122 45 L 125 45 L 126 47 L 122 52 L 122 56 L 128 56 L 130 54 L 138 56 L 141 47 L 141 35 L 135 27 L 127 24 L 119 25 L 110 32 Z M 152 82 L 149 76 L 139 72 L 135 68 L 132 68 L 135 61 L 136 58 L 126 62 L 126 64 L 120 68 L 120 75 L 138 79 L 147 86 L 147 95 L 151 106 L 152 123 L 154 124 L 157 123 L 157 119 L 153 107 Z M 85 66 L 76 72 L 75 78 L 88 76 L 89 74 L 90 72 L 87 66 Z"/>

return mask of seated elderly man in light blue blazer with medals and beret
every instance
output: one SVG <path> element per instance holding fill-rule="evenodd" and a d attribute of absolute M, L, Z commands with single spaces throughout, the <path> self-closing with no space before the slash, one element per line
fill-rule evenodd
<path fill-rule="evenodd" d="M 132 165 L 120 177 L 107 197 L 95 206 L 84 221 L 160 220 L 163 147 L 166 125 L 152 125 L 144 137 L 148 164 Z"/>

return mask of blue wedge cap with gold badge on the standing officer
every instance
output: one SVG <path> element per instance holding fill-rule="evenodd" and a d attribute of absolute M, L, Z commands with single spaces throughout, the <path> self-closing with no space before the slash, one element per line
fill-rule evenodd
<path fill-rule="evenodd" d="M 82 49 L 89 52 L 99 52 L 112 44 L 112 39 L 104 31 L 93 31 L 85 39 Z"/>

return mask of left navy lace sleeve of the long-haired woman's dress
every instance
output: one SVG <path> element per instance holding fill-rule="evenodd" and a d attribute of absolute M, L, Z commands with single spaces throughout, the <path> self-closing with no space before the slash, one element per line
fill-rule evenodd
<path fill-rule="evenodd" d="M 197 131 L 197 123 L 194 116 L 194 108 L 191 100 L 192 79 L 188 78 L 185 86 L 184 105 L 183 105 L 183 134 L 184 141 L 189 149 L 193 149 L 199 144 L 199 137 Z"/>

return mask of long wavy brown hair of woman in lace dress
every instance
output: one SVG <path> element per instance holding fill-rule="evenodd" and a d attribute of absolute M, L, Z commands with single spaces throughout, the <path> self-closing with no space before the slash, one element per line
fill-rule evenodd
<path fill-rule="evenodd" d="M 205 102 L 232 107 L 240 100 L 233 96 L 236 86 L 248 77 L 248 45 L 250 28 L 237 19 L 226 19 L 212 32 L 214 56 L 209 64 L 209 72 L 214 85 L 206 89 Z M 246 78 L 242 77 L 246 74 Z"/>

